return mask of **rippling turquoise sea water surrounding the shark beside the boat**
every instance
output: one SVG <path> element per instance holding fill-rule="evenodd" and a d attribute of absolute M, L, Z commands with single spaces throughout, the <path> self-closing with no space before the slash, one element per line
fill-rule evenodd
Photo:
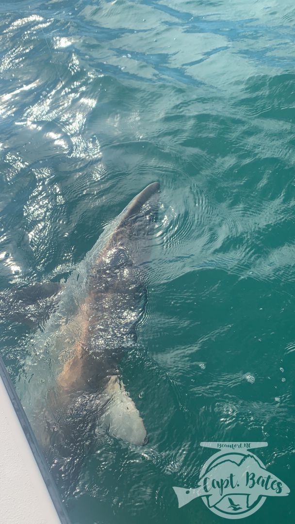
<path fill-rule="evenodd" d="M 77 457 L 51 465 L 72 522 L 221 522 L 201 499 L 178 509 L 172 486 L 195 487 L 201 441 L 241 440 L 267 441 L 257 455 L 291 490 L 247 521 L 291 524 L 293 2 L 32 0 L 0 13 L 1 288 L 67 277 L 161 184 L 140 347 L 122 364 L 149 443 L 98 439 L 78 479 Z M 34 328 L 2 331 L 17 382 Z"/>

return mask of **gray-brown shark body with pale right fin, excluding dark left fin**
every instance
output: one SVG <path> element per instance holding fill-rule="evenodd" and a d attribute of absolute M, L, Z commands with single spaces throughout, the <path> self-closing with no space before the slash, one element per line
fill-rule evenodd
<path fill-rule="evenodd" d="M 56 307 L 32 337 L 17 390 L 39 443 L 66 456 L 100 421 L 127 443 L 147 432 L 119 378 L 137 340 L 146 302 L 144 264 L 158 211 L 159 183 L 149 184 L 108 225 L 55 296 Z M 68 447 L 67 447 L 68 446 Z"/>

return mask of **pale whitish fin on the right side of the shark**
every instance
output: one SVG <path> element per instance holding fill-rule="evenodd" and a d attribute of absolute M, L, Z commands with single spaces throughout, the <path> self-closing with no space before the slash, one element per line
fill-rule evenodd
<path fill-rule="evenodd" d="M 110 398 L 104 414 L 108 431 L 118 439 L 132 444 L 146 444 L 147 432 L 139 411 L 116 376 L 111 377 L 105 394 Z"/>

